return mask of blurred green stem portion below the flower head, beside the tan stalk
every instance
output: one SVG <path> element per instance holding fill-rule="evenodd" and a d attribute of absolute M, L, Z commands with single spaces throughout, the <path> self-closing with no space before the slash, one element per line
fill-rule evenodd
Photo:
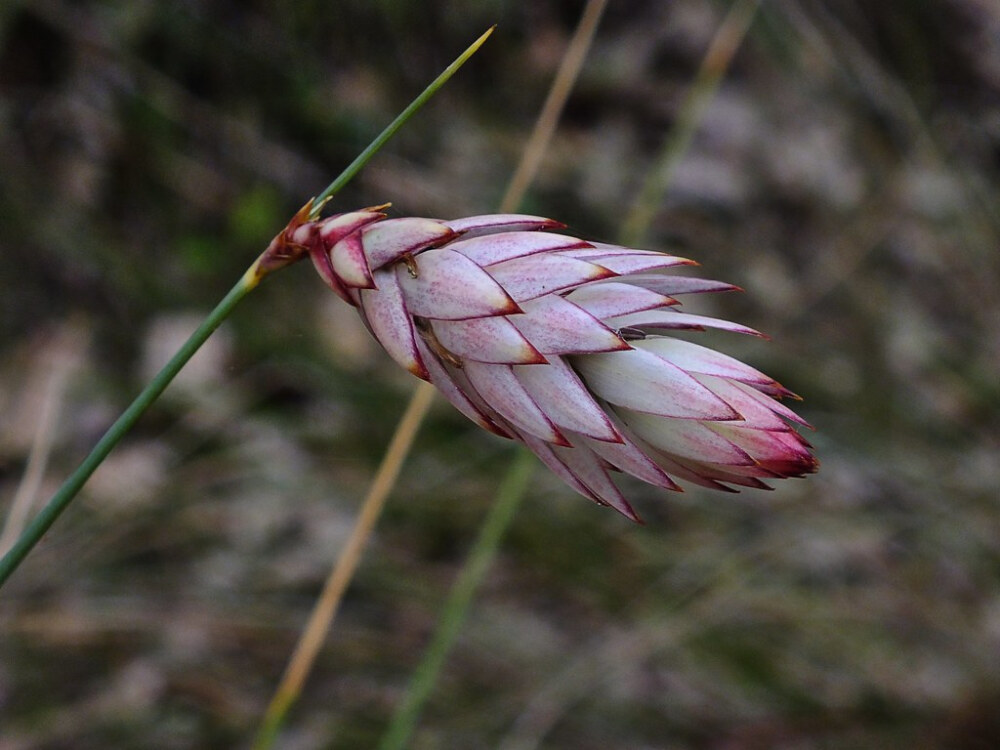
<path fill-rule="evenodd" d="M 393 714 L 392 721 L 378 745 L 379 750 L 400 750 L 407 746 L 448 652 L 451 651 L 465 623 L 472 597 L 482 583 L 486 571 L 489 570 L 500 545 L 500 539 L 524 497 L 535 465 L 534 456 L 527 450 L 521 449 L 507 470 L 490 507 L 489 515 L 480 527 L 479 536 L 448 596 L 433 640 L 413 673 L 406 696 Z"/>

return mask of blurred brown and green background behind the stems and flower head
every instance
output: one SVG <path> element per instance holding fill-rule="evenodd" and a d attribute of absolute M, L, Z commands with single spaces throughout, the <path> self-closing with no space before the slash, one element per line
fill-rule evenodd
<path fill-rule="evenodd" d="M 613 241 L 727 8 L 612 0 L 522 209 Z M 333 205 L 494 210 L 581 9 L 5 2 L 0 517 L 498 23 Z M 413 747 L 1000 746 L 994 0 L 765 0 L 643 246 L 747 290 L 820 473 L 639 527 L 539 469 Z M 246 746 L 414 383 L 255 291 L 0 594 L 0 748 Z M 512 456 L 435 408 L 281 747 L 375 743 Z"/>

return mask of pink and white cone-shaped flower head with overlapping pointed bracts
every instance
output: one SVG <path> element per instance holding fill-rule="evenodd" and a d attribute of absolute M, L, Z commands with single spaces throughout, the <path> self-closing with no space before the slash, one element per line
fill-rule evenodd
<path fill-rule="evenodd" d="M 677 330 L 757 334 L 680 312 L 735 287 L 671 275 L 684 258 L 585 242 L 523 215 L 386 219 L 381 208 L 290 226 L 389 355 L 481 427 L 520 440 L 577 492 L 636 515 L 623 471 L 720 490 L 815 471 L 806 423 L 763 373 Z"/>

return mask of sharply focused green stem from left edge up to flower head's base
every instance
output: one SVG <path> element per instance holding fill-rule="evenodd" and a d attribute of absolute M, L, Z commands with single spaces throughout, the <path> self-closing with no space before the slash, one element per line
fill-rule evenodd
<path fill-rule="evenodd" d="M 251 268 L 251 270 L 253 270 Z M 139 420 L 143 412 L 159 398 L 160 394 L 180 372 L 181 368 L 191 359 L 198 348 L 205 343 L 205 340 L 212 335 L 212 332 L 221 325 L 229 314 L 236 307 L 236 304 L 243 299 L 246 294 L 257 285 L 257 277 L 248 271 L 244 274 L 239 283 L 225 296 L 218 306 L 205 318 L 198 329 L 191 334 L 180 350 L 167 362 L 162 370 L 153 378 L 142 393 L 132 402 L 132 405 L 111 425 L 104 437 L 100 439 L 90 455 L 84 459 L 83 463 L 77 467 L 70 477 L 53 495 L 48 504 L 42 508 L 37 516 L 21 532 L 21 536 L 10 548 L 3 559 L 0 559 L 0 586 L 17 570 L 24 558 L 38 544 L 49 527 L 55 523 L 59 515 L 66 510 L 67 506 L 76 497 L 77 493 L 94 473 L 101 462 L 107 458 L 111 449 L 125 436 L 132 426 Z"/>

